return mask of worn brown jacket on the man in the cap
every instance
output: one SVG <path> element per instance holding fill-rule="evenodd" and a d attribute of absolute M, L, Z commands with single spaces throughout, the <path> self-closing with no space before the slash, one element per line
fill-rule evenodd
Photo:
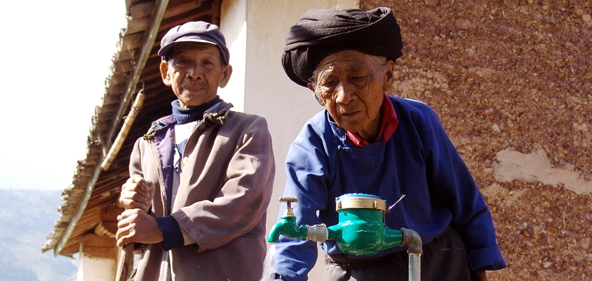
<path fill-rule="evenodd" d="M 262 117 L 225 111 L 204 119 L 205 125 L 198 126 L 187 141 L 171 210 L 196 244 L 169 251 L 170 275 L 179 281 L 259 280 L 266 253 L 265 215 L 275 175 L 267 123 Z M 162 217 L 168 214 L 162 155 L 156 143 L 172 138 L 174 118 L 171 115 L 155 124 L 156 130 L 153 125 L 149 134 L 136 141 L 130 176 L 141 175 L 155 183 L 152 212 Z M 136 280 L 166 280 L 165 261 L 160 243 L 147 245 Z"/>

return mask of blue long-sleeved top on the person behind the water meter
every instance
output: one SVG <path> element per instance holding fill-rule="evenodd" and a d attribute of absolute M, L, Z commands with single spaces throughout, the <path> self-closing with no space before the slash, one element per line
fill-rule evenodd
<path fill-rule="evenodd" d="M 297 225 L 337 224 L 335 198 L 344 193 L 377 195 L 387 208 L 404 194 L 384 215 L 389 228 L 410 228 L 427 244 L 452 225 L 464 240 L 471 269 L 506 267 L 490 211 L 435 112 L 421 102 L 389 98 L 399 124 L 388 141 L 354 147 L 326 110 L 304 125 L 286 159 L 284 195 L 300 198 L 292 205 Z M 275 272 L 285 280 L 307 280 L 316 247 L 312 241 L 281 236 Z M 334 240 L 323 248 L 330 255 L 342 253 Z M 377 256 L 401 250 L 394 247 Z"/>

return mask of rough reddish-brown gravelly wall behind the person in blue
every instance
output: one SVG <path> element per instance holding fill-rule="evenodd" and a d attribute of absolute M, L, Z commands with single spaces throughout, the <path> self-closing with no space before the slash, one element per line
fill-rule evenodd
<path fill-rule="evenodd" d="M 394 11 L 404 41 L 394 94 L 435 109 L 491 208 L 508 267 L 490 280 L 589 280 L 590 1 L 360 5 Z M 540 173 L 501 163 L 508 153 L 536 156 L 522 165 Z M 504 176 L 504 164 L 522 176 Z"/>

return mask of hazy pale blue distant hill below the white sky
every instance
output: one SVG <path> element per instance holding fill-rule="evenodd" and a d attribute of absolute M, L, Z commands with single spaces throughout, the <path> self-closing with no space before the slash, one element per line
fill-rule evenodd
<path fill-rule="evenodd" d="M 76 280 L 76 260 L 40 250 L 59 217 L 61 193 L 0 189 L 0 280 Z"/>

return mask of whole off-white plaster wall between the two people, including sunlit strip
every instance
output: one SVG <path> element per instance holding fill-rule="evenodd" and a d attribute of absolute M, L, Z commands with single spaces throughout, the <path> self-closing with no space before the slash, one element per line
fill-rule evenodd
<path fill-rule="evenodd" d="M 281 64 L 285 36 L 304 12 L 311 8 L 357 8 L 357 0 L 223 0 L 220 29 L 230 49 L 233 75 L 221 91 L 237 111 L 265 117 L 274 142 L 276 176 L 268 208 L 267 229 L 277 221 L 284 192 L 284 162 L 289 145 L 304 123 L 323 110 L 313 93 L 296 85 Z M 245 28 L 246 27 L 246 28 Z M 245 44 L 246 43 L 246 44 Z M 246 48 L 242 50 L 242 48 Z M 244 67 L 244 70 L 237 68 Z M 240 73 L 240 76 L 237 75 Z M 233 91 L 233 93 L 229 93 Z M 235 99 L 243 98 L 243 101 Z M 241 110 L 242 109 L 242 110 Z M 319 247 L 317 265 L 309 280 L 323 280 L 324 253 Z"/>

